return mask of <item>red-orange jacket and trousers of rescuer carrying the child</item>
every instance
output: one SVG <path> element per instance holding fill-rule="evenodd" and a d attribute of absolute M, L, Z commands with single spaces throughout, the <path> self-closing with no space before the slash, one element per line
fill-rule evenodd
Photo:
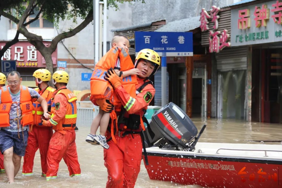
<path fill-rule="evenodd" d="M 136 89 L 144 84 L 144 78 L 137 78 L 137 81 Z M 141 115 L 155 95 L 152 84 L 146 85 L 135 98 L 131 97 L 122 86 L 117 87 L 114 92 L 129 114 Z M 140 128 L 139 130 L 141 131 Z M 105 167 L 108 171 L 106 187 L 134 187 L 142 159 L 141 136 L 140 134 L 128 134 L 120 137 L 117 133 L 114 137 L 117 143 L 110 140 L 107 142 L 109 149 L 104 149 Z"/>

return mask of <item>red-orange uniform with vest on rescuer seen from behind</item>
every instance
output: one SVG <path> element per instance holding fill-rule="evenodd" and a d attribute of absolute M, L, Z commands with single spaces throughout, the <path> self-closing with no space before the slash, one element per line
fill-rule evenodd
<path fill-rule="evenodd" d="M 57 177 L 59 163 L 64 159 L 70 176 L 80 176 L 80 165 L 75 143 L 76 97 L 66 87 L 54 93 L 51 119 L 47 126 L 53 126 L 55 133 L 49 143 L 47 153 L 47 181 Z"/>

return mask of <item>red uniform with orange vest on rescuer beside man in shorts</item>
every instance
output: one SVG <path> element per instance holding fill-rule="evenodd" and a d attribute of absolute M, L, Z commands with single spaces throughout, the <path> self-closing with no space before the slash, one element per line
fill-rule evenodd
<path fill-rule="evenodd" d="M 36 90 L 46 101 L 48 109 L 51 108 L 51 98 L 56 89 L 47 86 L 45 89 Z M 30 126 L 30 132 L 28 133 L 27 148 L 25 150 L 25 156 L 23 157 L 23 175 L 32 176 L 33 162 L 36 151 L 39 149 L 41 159 L 41 176 L 46 176 L 47 173 L 47 152 L 49 147 L 49 141 L 52 137 L 53 131 L 51 127 L 45 127 L 41 123 L 41 117 L 43 116 L 43 109 L 39 102 L 33 102 L 33 125 Z"/>

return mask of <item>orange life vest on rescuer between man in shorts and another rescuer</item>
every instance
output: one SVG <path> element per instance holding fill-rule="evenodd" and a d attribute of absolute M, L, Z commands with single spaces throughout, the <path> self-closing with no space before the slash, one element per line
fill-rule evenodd
<path fill-rule="evenodd" d="M 40 91 L 39 88 L 35 88 L 34 90 L 36 90 L 38 93 Z M 56 91 L 56 89 L 54 89 L 50 86 L 47 86 L 47 88 L 41 94 L 41 96 L 46 100 L 47 105 L 51 105 L 50 103 L 48 104 L 48 102 L 52 98 L 53 93 L 55 91 Z M 38 101 L 33 102 L 32 105 L 33 105 L 33 107 L 32 107 L 33 125 L 42 126 L 41 117 L 44 113 L 43 108 L 41 107 L 41 105 Z"/>

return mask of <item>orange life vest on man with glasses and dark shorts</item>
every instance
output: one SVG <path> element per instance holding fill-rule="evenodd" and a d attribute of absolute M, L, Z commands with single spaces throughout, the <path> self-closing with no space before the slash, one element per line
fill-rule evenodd
<path fill-rule="evenodd" d="M 13 103 L 20 103 L 21 108 L 21 125 L 26 126 L 33 123 L 32 118 L 32 101 L 28 87 L 21 85 L 20 101 L 13 102 L 8 86 L 1 87 L 1 104 L 0 104 L 0 127 L 10 126 L 10 109 Z"/>

